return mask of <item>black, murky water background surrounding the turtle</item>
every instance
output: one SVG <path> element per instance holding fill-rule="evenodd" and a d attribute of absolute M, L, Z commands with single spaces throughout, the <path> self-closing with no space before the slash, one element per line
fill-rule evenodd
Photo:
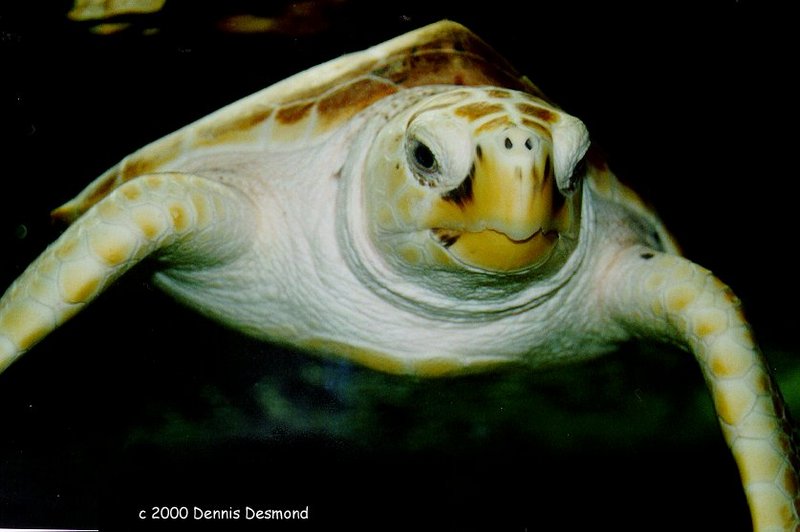
<path fill-rule="evenodd" d="M 451 18 L 583 119 L 685 253 L 734 288 L 800 411 L 788 12 L 748 1 L 341 1 L 309 4 L 313 18 L 280 32 L 242 35 L 217 21 L 287 6 L 198 4 L 168 0 L 110 36 L 68 21 L 69 2 L 0 7 L 0 286 L 58 234 L 51 208 L 146 142 Z M 0 526 L 178 530 L 186 523 L 136 516 L 308 505 L 307 522 L 188 524 L 749 528 L 683 353 L 637 345 L 541 374 L 387 377 L 243 339 L 153 290 L 147 273 L 0 375 Z"/>

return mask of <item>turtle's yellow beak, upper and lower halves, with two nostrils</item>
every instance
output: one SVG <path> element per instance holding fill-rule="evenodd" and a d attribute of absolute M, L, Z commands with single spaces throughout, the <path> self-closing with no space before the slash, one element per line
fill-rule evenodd
<path fill-rule="evenodd" d="M 472 170 L 435 203 L 428 220 L 456 259 L 488 271 L 540 264 L 574 210 L 559 192 L 550 143 L 522 128 L 493 135 L 476 149 Z"/>

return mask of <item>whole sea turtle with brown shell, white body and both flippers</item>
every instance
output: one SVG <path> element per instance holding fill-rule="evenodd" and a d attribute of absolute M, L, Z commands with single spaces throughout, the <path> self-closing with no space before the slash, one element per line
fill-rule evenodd
<path fill-rule="evenodd" d="M 780 393 L 732 292 L 583 123 L 443 21 L 299 73 L 123 159 L 0 299 L 0 369 L 137 262 L 248 335 L 419 376 L 691 351 L 754 525 L 800 528 Z"/>

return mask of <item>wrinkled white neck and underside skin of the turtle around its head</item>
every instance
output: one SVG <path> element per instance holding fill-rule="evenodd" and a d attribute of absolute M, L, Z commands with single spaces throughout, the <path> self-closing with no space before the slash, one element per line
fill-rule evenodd
<path fill-rule="evenodd" d="M 619 339 L 592 308 L 597 277 L 587 272 L 614 249 L 606 242 L 600 253 L 597 198 L 583 201 L 582 237 L 565 267 L 502 299 L 454 299 L 389 269 L 352 208 L 358 201 L 342 196 L 358 194 L 351 185 L 379 125 L 356 121 L 313 149 L 233 153 L 227 162 L 216 156 L 213 166 L 175 161 L 184 172 L 244 190 L 261 219 L 251 252 L 233 264 L 165 270 L 158 284 L 249 335 L 298 347 L 346 345 L 401 361 L 410 372 L 425 360 L 549 365 L 595 356 Z"/>

